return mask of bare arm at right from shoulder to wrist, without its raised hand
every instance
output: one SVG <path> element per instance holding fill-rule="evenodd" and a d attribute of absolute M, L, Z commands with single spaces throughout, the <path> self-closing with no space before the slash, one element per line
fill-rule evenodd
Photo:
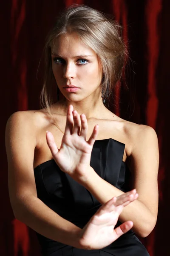
<path fill-rule="evenodd" d="M 121 222 L 133 221 L 133 230 L 139 236 L 145 237 L 153 230 L 157 219 L 159 148 L 156 132 L 149 126 L 141 125 L 135 140 L 130 157 L 130 169 L 133 175 L 133 188 L 136 188 L 139 197 L 123 209 L 119 220 Z M 88 179 L 80 183 L 101 204 L 105 204 L 113 195 L 124 194 L 99 177 L 92 168 Z"/>

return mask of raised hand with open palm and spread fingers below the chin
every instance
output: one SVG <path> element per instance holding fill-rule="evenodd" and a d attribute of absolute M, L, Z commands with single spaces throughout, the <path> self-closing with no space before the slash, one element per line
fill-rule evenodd
<path fill-rule="evenodd" d="M 98 134 L 98 125 L 94 126 L 91 137 L 86 141 L 88 122 L 84 114 L 79 114 L 68 106 L 65 133 L 62 137 L 60 149 L 54 141 L 51 132 L 46 132 L 47 144 L 59 168 L 80 181 L 88 178 L 91 171 L 91 151 Z"/>

